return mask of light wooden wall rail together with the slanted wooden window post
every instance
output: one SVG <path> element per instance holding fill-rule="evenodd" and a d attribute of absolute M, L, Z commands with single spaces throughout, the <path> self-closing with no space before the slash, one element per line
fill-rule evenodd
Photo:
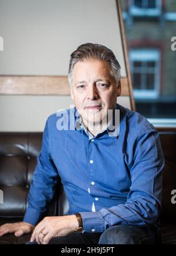
<path fill-rule="evenodd" d="M 120 0 L 116 0 L 117 14 L 123 54 L 126 64 L 127 77 L 121 78 L 121 95 L 130 97 L 131 109 L 136 110 L 133 98 L 130 67 L 127 54 L 127 43 L 122 18 Z M 70 95 L 70 87 L 67 76 L 24 76 L 24 75 L 0 75 L 1 95 Z"/>

